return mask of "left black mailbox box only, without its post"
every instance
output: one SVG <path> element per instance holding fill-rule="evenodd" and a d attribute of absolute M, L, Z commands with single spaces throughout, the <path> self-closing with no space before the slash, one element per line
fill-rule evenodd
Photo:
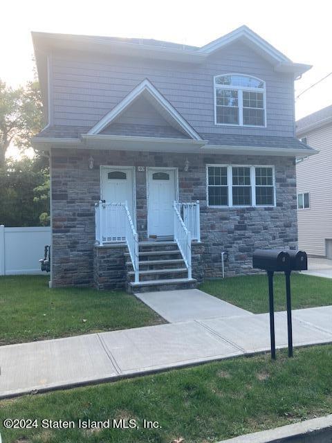
<path fill-rule="evenodd" d="M 256 249 L 252 255 L 252 267 L 264 271 L 287 271 L 291 267 L 288 251 Z"/>

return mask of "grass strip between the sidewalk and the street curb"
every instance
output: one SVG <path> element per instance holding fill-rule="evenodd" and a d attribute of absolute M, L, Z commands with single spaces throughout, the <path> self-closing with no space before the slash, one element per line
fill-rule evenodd
<path fill-rule="evenodd" d="M 4 442 L 212 443 L 332 412 L 332 345 L 239 357 L 98 386 L 0 401 Z M 138 429 L 4 429 L 5 418 L 136 419 Z M 142 420 L 160 428 L 143 429 Z M 181 440 L 182 441 L 182 440 Z"/>

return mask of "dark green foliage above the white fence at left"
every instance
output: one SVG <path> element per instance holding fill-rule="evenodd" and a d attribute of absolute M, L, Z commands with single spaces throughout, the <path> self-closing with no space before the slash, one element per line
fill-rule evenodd
<path fill-rule="evenodd" d="M 6 161 L 0 168 L 0 224 L 48 226 L 49 188 L 48 159 Z"/>

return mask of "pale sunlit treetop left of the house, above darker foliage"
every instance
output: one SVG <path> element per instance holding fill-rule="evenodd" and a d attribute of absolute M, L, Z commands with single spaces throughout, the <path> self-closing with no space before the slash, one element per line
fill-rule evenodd
<path fill-rule="evenodd" d="M 42 97 L 37 80 L 12 89 L 0 80 L 0 167 L 10 143 L 25 149 L 44 123 Z"/>

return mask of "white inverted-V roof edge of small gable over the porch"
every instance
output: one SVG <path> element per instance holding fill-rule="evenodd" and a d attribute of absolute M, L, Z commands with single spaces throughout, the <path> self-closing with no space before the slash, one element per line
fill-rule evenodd
<path fill-rule="evenodd" d="M 144 96 L 152 106 L 154 106 L 160 114 L 178 131 L 187 134 L 193 140 L 202 140 L 201 136 L 195 129 L 187 123 L 187 120 L 176 111 L 176 109 L 169 103 L 168 100 L 154 87 L 154 85 L 147 80 L 143 80 L 138 84 L 118 105 L 113 107 L 109 113 L 106 114 L 95 126 L 93 126 L 88 135 L 100 134 L 103 129 L 111 125 L 121 114 L 128 109 L 133 102 L 140 96 Z"/>

